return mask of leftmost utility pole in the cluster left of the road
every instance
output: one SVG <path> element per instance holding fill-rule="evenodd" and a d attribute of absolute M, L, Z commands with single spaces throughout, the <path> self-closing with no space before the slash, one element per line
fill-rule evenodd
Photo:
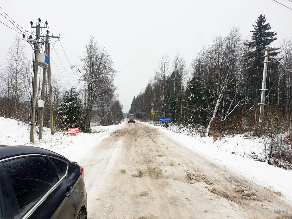
<path fill-rule="evenodd" d="M 36 41 L 39 41 L 40 26 L 36 25 Z M 38 71 L 38 60 L 39 60 L 39 45 L 35 44 L 34 47 L 34 72 L 33 72 L 33 90 L 32 90 L 32 109 L 30 115 L 30 136 L 29 142 L 34 142 L 34 126 L 35 126 L 35 114 L 36 114 L 36 86 L 37 86 L 37 71 Z"/>

